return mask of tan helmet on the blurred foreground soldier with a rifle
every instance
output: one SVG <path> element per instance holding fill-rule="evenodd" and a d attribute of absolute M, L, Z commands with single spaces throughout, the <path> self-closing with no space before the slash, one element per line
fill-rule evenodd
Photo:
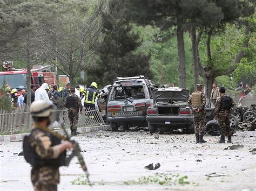
<path fill-rule="evenodd" d="M 48 117 L 52 112 L 52 104 L 44 100 L 36 100 L 30 105 L 32 117 Z"/>

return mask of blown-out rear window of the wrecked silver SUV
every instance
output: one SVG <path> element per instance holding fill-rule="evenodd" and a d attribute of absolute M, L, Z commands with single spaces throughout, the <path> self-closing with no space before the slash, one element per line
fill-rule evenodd
<path fill-rule="evenodd" d="M 143 86 L 114 87 L 112 89 L 110 100 L 124 100 L 125 97 L 132 97 L 134 99 L 145 98 Z"/>

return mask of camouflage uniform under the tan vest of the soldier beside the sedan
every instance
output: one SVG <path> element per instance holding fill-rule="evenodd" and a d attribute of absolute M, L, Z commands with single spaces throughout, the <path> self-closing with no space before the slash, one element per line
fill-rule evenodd
<path fill-rule="evenodd" d="M 192 97 L 196 93 L 201 93 L 201 105 L 198 107 L 199 112 L 194 112 L 197 108 L 194 108 L 192 106 Z M 191 94 L 190 98 L 188 98 L 188 107 L 193 111 L 194 114 L 194 132 L 199 135 L 204 135 L 205 131 L 205 117 L 206 117 L 206 112 L 205 112 L 205 104 L 206 104 L 206 96 L 203 92 L 201 91 L 195 91 L 194 93 Z"/>

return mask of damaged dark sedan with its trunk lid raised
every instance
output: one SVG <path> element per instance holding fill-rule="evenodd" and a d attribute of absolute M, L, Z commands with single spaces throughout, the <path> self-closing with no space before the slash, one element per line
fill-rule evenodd
<path fill-rule="evenodd" d="M 187 106 L 190 96 L 188 89 L 161 88 L 153 90 L 154 104 L 147 110 L 147 124 L 150 133 L 160 127 L 194 131 L 194 118 Z"/>

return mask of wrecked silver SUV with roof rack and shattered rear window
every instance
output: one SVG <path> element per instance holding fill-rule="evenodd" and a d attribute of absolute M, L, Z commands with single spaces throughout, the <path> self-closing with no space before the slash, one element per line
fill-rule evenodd
<path fill-rule="evenodd" d="M 153 104 L 154 88 L 157 86 L 144 76 L 117 77 L 107 100 L 107 119 L 112 131 L 119 126 L 147 126 L 146 110 Z"/>

